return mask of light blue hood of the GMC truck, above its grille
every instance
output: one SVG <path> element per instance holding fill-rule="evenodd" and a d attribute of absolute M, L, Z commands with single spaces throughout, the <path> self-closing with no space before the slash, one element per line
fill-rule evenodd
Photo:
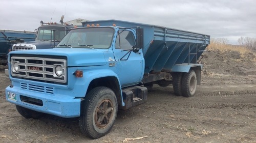
<path fill-rule="evenodd" d="M 35 56 L 66 56 L 68 67 L 101 66 L 105 65 L 103 51 L 108 49 L 78 49 L 78 48 L 53 48 L 11 51 L 12 54 L 31 54 Z"/>

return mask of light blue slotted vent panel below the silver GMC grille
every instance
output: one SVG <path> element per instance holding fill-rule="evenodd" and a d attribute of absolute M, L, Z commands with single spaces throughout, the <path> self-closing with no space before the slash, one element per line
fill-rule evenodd
<path fill-rule="evenodd" d="M 26 89 L 26 90 L 53 94 L 53 88 L 51 88 L 51 87 L 45 87 L 45 86 L 42 86 L 42 85 L 23 83 L 23 82 L 20 83 L 20 86 L 21 86 L 22 89 Z"/>

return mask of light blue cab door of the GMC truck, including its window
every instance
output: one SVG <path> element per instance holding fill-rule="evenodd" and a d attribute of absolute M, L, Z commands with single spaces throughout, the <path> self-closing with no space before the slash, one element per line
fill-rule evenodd
<path fill-rule="evenodd" d="M 139 51 L 132 51 L 136 45 L 132 31 L 119 30 L 113 48 L 116 60 L 116 74 L 119 77 L 121 87 L 137 84 L 143 77 L 143 55 Z"/>

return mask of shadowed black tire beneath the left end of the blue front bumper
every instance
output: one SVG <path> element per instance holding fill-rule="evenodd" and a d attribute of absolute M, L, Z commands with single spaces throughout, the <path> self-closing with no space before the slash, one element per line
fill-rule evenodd
<path fill-rule="evenodd" d="M 16 105 L 16 109 L 20 115 L 22 115 L 27 119 L 30 119 L 30 118 L 38 119 L 44 115 L 44 113 L 42 112 L 34 111 L 19 105 Z"/>

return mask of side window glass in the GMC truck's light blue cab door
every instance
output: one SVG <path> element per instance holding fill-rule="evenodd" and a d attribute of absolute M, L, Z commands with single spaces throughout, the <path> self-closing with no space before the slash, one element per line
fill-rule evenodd
<path fill-rule="evenodd" d="M 117 33 L 115 48 L 121 50 L 130 50 L 136 45 L 132 32 L 119 30 Z"/>

